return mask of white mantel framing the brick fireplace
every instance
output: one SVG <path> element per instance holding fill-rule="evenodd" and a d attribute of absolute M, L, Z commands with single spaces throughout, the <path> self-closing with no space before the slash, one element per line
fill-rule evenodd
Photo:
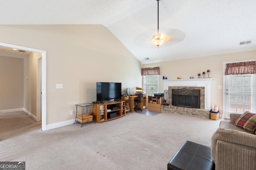
<path fill-rule="evenodd" d="M 169 86 L 204 87 L 204 109 L 211 109 L 212 80 L 215 78 L 165 79 L 164 89 Z"/>

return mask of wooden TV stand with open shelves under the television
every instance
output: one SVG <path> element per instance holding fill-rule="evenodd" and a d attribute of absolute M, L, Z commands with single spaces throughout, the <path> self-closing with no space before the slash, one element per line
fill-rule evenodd
<path fill-rule="evenodd" d="M 112 108 L 120 107 L 120 109 L 110 110 L 108 109 L 110 107 Z M 103 104 L 102 103 L 94 104 L 93 116 L 94 116 L 94 121 L 96 121 L 97 123 L 113 120 L 118 117 L 122 117 L 124 115 L 125 115 L 124 101 L 120 101 L 120 102 L 111 101 L 111 102 L 104 102 Z"/>

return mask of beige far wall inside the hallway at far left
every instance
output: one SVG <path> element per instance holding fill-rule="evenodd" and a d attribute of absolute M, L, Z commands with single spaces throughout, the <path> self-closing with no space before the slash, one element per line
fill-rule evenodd
<path fill-rule="evenodd" d="M 0 110 L 23 107 L 23 59 L 0 56 Z"/>

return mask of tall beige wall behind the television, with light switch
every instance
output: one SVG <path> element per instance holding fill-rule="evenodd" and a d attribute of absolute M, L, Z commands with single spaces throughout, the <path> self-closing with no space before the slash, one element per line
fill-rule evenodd
<path fill-rule="evenodd" d="M 0 25 L 0 32 L 2 43 L 46 51 L 47 125 L 95 101 L 96 82 L 122 82 L 122 93 L 142 86 L 141 63 L 102 25 Z"/>

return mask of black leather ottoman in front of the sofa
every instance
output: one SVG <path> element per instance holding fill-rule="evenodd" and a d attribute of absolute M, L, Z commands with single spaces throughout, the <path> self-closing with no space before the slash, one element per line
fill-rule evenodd
<path fill-rule="evenodd" d="M 168 170 L 214 170 L 211 148 L 186 141 L 167 165 Z"/>

